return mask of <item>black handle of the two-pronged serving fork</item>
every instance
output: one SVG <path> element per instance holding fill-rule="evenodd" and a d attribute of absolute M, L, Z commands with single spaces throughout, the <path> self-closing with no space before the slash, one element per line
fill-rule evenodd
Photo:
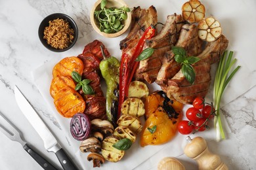
<path fill-rule="evenodd" d="M 26 150 L 28 152 L 28 154 L 30 154 L 30 156 L 32 156 L 32 158 L 35 161 L 37 161 L 37 163 L 39 163 L 39 165 L 41 165 L 41 167 L 43 167 L 43 169 L 57 170 L 56 167 L 54 167 L 51 163 L 49 163 L 49 161 L 45 160 L 45 158 L 43 158 L 37 152 L 35 152 L 35 150 L 30 148 L 30 146 L 28 146 L 28 144 L 25 144 L 23 146 L 23 148 L 24 148 L 24 150 Z"/>

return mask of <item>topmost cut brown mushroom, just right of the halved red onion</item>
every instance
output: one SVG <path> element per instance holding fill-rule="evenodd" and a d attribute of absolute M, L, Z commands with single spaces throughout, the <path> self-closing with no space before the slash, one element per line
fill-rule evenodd
<path fill-rule="evenodd" d="M 98 118 L 91 121 L 93 131 L 101 131 L 105 137 L 111 135 L 114 131 L 114 126 L 108 120 L 100 120 Z"/>

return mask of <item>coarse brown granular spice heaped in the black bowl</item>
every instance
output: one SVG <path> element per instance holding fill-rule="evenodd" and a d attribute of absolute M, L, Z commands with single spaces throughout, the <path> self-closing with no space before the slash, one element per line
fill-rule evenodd
<path fill-rule="evenodd" d="M 67 48 L 74 40 L 74 29 L 68 21 L 59 18 L 49 21 L 49 26 L 45 27 L 43 34 L 47 44 L 56 49 Z"/>

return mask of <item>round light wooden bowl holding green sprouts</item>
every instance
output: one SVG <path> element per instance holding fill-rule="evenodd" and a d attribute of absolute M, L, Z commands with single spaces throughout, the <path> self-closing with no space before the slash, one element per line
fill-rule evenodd
<path fill-rule="evenodd" d="M 95 19 L 95 15 L 94 15 L 95 10 L 100 10 L 100 3 L 101 3 L 101 0 L 96 1 L 95 5 L 93 6 L 93 9 L 91 9 L 90 18 L 91 18 L 91 24 L 93 25 L 93 29 L 95 29 L 95 31 L 100 35 L 104 37 L 110 37 L 110 38 L 118 37 L 123 33 L 125 33 L 125 31 L 129 28 L 129 25 L 131 24 L 131 12 L 127 12 L 127 19 L 124 22 L 123 29 L 121 29 L 117 33 L 104 33 L 100 31 L 98 21 Z M 110 8 L 110 7 L 120 8 L 123 6 L 128 7 L 123 0 L 107 0 L 107 4 L 106 4 L 107 8 Z"/>

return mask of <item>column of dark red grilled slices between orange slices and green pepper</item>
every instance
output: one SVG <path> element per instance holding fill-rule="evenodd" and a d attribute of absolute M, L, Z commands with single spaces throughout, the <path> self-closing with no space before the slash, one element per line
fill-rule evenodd
<path fill-rule="evenodd" d="M 100 46 L 103 46 L 103 50 L 106 56 L 110 56 L 108 50 L 104 47 L 104 44 L 98 40 L 87 44 L 83 50 L 83 54 L 79 54 L 77 58 L 83 61 L 83 79 L 89 79 L 91 82 L 89 85 L 95 92 L 93 95 L 83 93 L 83 90 L 79 90 L 79 93 L 85 99 L 85 111 L 84 113 L 89 116 L 91 120 L 100 118 L 105 120 L 106 117 L 106 99 L 100 88 L 100 61 L 103 59 Z"/>

